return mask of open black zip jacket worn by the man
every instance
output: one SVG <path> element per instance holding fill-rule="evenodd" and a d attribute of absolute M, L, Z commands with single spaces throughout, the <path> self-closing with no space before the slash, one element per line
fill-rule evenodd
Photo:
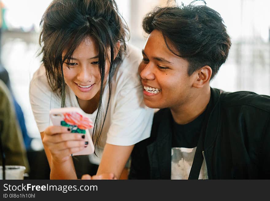
<path fill-rule="evenodd" d="M 159 110 L 151 136 L 131 154 L 129 179 L 170 179 L 170 109 Z M 270 97 L 211 88 L 203 151 L 209 179 L 270 179 Z M 207 120 L 206 119 L 206 120 Z"/>

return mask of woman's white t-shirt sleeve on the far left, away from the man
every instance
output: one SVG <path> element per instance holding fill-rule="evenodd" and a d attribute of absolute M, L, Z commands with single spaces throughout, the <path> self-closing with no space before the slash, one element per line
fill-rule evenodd
<path fill-rule="evenodd" d="M 34 75 L 29 87 L 29 98 L 38 130 L 43 132 L 50 124 L 50 109 L 55 107 L 57 99 L 44 74 Z"/>

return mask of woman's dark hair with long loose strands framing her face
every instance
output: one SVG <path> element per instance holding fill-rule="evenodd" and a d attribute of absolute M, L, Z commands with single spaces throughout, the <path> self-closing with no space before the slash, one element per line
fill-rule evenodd
<path fill-rule="evenodd" d="M 62 107 L 65 106 L 66 84 L 64 82 L 63 63 L 69 63 L 73 52 L 79 44 L 91 36 L 98 45 L 99 72 L 101 87 L 99 104 L 93 133 L 95 146 L 98 144 L 110 103 L 112 78 L 115 63 L 121 61 L 121 53 L 125 51 L 125 39 L 128 28 L 123 23 L 114 0 L 54 0 L 48 6 L 41 20 L 40 54 L 43 54 L 43 64 L 47 80 L 52 91 L 61 96 Z M 114 60 L 116 44 L 120 41 L 120 51 Z M 109 69 L 109 99 L 105 115 L 102 110 L 102 94 L 105 76 L 107 50 L 110 48 Z M 62 58 L 63 52 L 66 54 Z M 103 122 L 102 122 L 102 116 Z"/>

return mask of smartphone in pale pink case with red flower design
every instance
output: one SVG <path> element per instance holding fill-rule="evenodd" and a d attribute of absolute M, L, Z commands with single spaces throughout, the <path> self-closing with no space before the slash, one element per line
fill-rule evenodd
<path fill-rule="evenodd" d="M 65 126 L 71 129 L 71 133 L 85 135 L 84 140 L 88 145 L 82 151 L 72 153 L 71 156 L 88 155 L 95 151 L 93 140 L 89 130 L 94 127 L 91 119 L 83 116 L 82 110 L 78 107 L 63 107 L 50 110 L 50 119 L 53 125 Z"/>

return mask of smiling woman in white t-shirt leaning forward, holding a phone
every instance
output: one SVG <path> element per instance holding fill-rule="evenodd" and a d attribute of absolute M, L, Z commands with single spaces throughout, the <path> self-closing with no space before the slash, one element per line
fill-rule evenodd
<path fill-rule="evenodd" d="M 90 161 L 99 165 L 97 175 L 119 178 L 133 145 L 149 137 L 153 110 L 143 103 L 140 51 L 125 43 L 116 3 L 54 0 L 41 25 L 43 64 L 31 81 L 30 101 L 51 179 L 76 179 L 70 154 L 87 146 L 81 134 L 50 126 L 50 109 L 68 106 L 95 119 L 91 132 L 100 151 Z"/>

